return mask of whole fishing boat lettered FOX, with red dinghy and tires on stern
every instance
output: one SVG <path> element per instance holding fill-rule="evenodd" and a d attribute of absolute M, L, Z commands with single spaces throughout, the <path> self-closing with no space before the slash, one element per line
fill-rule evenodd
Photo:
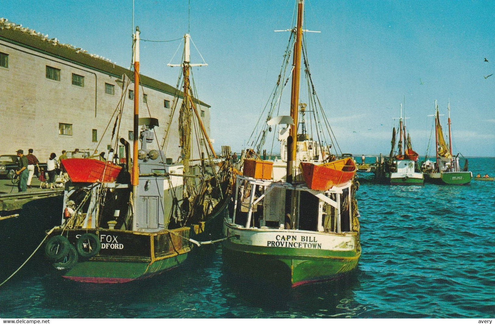
<path fill-rule="evenodd" d="M 65 186 L 61 225 L 51 231 L 45 254 L 63 278 L 74 281 L 123 283 L 175 268 L 186 260 L 191 242 L 200 244 L 191 236 L 204 233 L 208 221 L 223 219 L 227 205 L 228 161 L 214 161 L 211 153 L 204 159 L 195 159 L 202 155 L 191 153 L 189 141 L 183 142 L 182 161 L 173 163 L 172 158 L 165 158 L 164 145 L 160 147 L 155 140 L 158 120 L 139 118 L 139 28 L 133 39 L 132 159 L 130 143 L 123 138 L 117 140 L 117 133 L 115 137 L 112 134 L 111 142 L 125 146 L 125 163 L 114 163 L 117 159 L 112 149 L 107 161 L 63 162 L 70 181 Z M 178 91 L 174 103 L 177 105 L 182 95 L 179 133 L 187 141 L 197 99 L 189 92 L 190 65 L 189 57 L 185 57 L 182 66 L 187 87 L 184 93 Z M 126 92 L 123 87 L 123 94 Z M 118 130 L 120 119 L 116 117 L 114 130 Z M 205 134 L 198 140 L 211 152 Z M 195 171 L 198 172 L 194 174 Z M 221 235 L 221 223 L 217 230 Z"/>

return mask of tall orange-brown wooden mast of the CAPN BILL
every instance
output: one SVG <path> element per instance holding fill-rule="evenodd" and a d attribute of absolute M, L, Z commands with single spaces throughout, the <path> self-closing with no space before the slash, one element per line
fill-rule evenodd
<path fill-rule="evenodd" d="M 302 13 L 304 0 L 297 1 L 297 26 L 296 43 L 294 44 L 292 92 L 291 92 L 291 117 L 294 124 L 291 126 L 289 138 L 287 139 L 287 182 L 292 183 L 294 177 L 294 163 L 297 156 L 297 107 L 299 104 L 299 79 L 301 70 L 301 47 L 302 47 Z"/>

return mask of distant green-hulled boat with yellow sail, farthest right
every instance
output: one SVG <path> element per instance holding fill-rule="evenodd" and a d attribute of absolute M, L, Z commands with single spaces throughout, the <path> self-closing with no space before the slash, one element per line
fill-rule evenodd
<path fill-rule="evenodd" d="M 435 146 L 436 146 L 436 161 L 435 163 L 426 160 L 422 169 L 425 174 L 425 181 L 437 185 L 469 185 L 473 179 L 472 172 L 468 171 L 467 159 L 464 163 L 464 168 L 461 170 L 459 165 L 459 154 L 452 155 L 452 137 L 450 131 L 450 103 L 448 109 L 448 146 L 440 124 L 440 114 L 437 100 L 435 100 Z"/>

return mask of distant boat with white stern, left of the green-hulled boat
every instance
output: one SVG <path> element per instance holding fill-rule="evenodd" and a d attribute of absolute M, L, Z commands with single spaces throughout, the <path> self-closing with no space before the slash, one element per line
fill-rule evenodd
<path fill-rule="evenodd" d="M 423 185 L 424 175 L 416 163 L 419 154 L 412 149 L 411 137 L 406 133 L 405 116 L 402 117 L 402 104 L 400 104 L 399 141 L 396 146 L 396 128 L 392 131 L 392 148 L 387 160 L 378 162 L 375 168 L 375 182 L 390 185 Z M 406 135 L 407 134 L 407 135 Z M 402 138 L 404 139 L 404 151 L 402 153 Z"/>

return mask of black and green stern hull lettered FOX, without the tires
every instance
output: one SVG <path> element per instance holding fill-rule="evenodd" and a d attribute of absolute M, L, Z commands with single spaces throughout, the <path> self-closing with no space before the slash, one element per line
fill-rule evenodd
<path fill-rule="evenodd" d="M 124 283 L 148 278 L 179 266 L 191 248 L 189 228 L 154 233 L 121 230 L 78 229 L 65 231 L 64 236 L 75 244 L 83 233 L 99 237 L 101 249 L 89 259 L 79 256 L 70 269 L 59 269 L 61 276 L 79 282 Z M 52 235 L 59 235 L 60 230 Z M 173 233 L 172 233 L 173 232 Z"/>

